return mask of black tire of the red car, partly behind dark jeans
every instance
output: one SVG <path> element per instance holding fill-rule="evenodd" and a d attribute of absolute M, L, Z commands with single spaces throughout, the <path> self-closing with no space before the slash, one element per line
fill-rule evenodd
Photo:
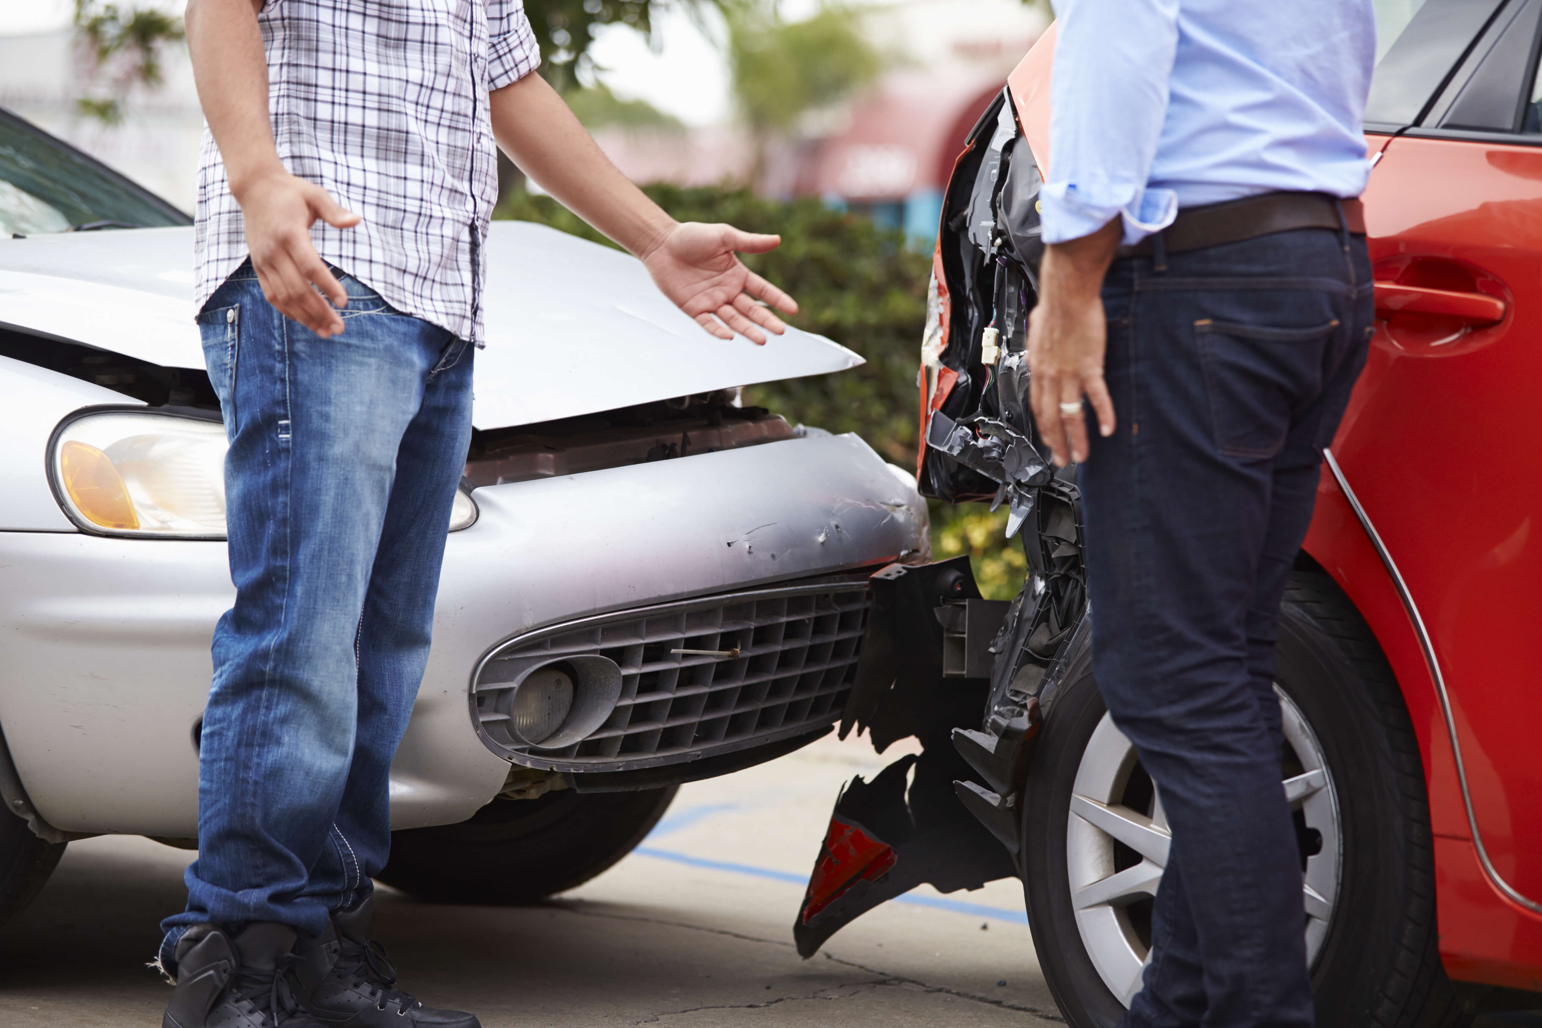
<path fill-rule="evenodd" d="M 1130 979 L 1099 971 L 1089 939 L 1101 966 L 1127 969 L 1129 965 L 1115 959 L 1127 954 L 1109 956 L 1112 936 L 1098 934 L 1098 922 L 1087 917 L 1092 908 L 1086 902 L 1084 920 L 1078 920 L 1072 879 L 1086 862 L 1081 851 L 1075 851 L 1073 866 L 1069 843 L 1086 835 L 1070 812 L 1078 774 L 1095 746 L 1107 747 L 1109 732 L 1116 729 L 1110 721 L 1098 735 L 1106 707 L 1092 677 L 1090 650 L 1084 647 L 1072 657 L 1064 681 L 1045 718 L 1024 791 L 1022 868 L 1029 925 L 1044 977 L 1067 1022 L 1075 1028 L 1113 1028 L 1124 1002 L 1110 982 L 1119 985 Z M 1331 858 L 1332 852 L 1323 848 L 1332 845 L 1334 834 L 1338 840 L 1337 892 L 1315 943 L 1308 922 L 1317 1023 L 1325 1028 L 1468 1025 L 1471 1003 L 1446 979 L 1437 948 L 1434 854 L 1419 744 L 1375 638 L 1326 575 L 1297 573 L 1286 593 L 1277 689 L 1284 697 L 1281 707 L 1288 721 L 1294 709 L 1298 723 L 1305 720 L 1309 726 L 1306 735 L 1297 727 L 1297 740 L 1286 747 L 1286 761 L 1309 763 L 1297 751 L 1315 747 L 1334 801 L 1332 826 L 1311 828 L 1305 814 L 1297 812 L 1303 865 L 1309 854 L 1314 860 Z M 1133 768 L 1127 783 L 1118 788 L 1140 801 L 1144 772 L 1132 757 L 1129 751 L 1124 766 Z M 1286 769 L 1286 777 L 1291 771 Z M 1093 780 L 1090 774 L 1081 778 L 1082 783 Z M 1149 784 L 1144 795 L 1150 795 Z M 1152 809 L 1155 805 L 1146 812 Z M 1329 808 L 1318 805 L 1318 820 L 1329 817 L 1323 809 Z M 1326 838 L 1314 842 L 1314 831 Z M 1315 852 L 1314 845 L 1318 846 Z M 1132 858 L 1140 854 L 1127 851 L 1123 863 L 1127 866 Z M 1113 866 L 1118 869 L 1119 863 Z M 1309 871 L 1308 883 L 1314 874 L 1323 879 L 1325 872 L 1326 865 Z M 1147 905 L 1149 932 L 1149 900 L 1141 902 Z M 1129 943 L 1136 957 L 1144 956 L 1138 945 L 1138 906 L 1132 903 L 1123 922 L 1126 936 L 1136 937 L 1136 943 Z M 1138 976 L 1135 982 L 1138 985 Z"/>

